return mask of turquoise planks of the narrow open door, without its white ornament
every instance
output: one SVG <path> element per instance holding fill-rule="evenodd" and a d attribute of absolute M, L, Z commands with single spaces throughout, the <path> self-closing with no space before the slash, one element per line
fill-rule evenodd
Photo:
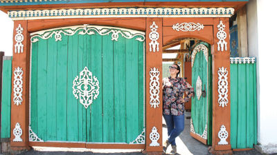
<path fill-rule="evenodd" d="M 193 122 L 195 134 L 204 137 L 204 131 L 206 130 L 206 138 L 204 138 L 208 144 L 211 143 L 212 132 L 212 99 L 211 99 L 211 48 L 207 43 L 203 44 L 208 48 L 208 61 L 205 58 L 204 52 L 201 50 L 195 55 L 195 61 L 192 68 L 192 85 L 195 89 L 195 97 L 192 99 L 191 105 L 191 119 Z M 195 46 L 197 47 L 197 45 Z M 202 81 L 202 90 L 206 90 L 206 97 L 201 96 L 197 99 L 197 79 L 198 77 Z"/>

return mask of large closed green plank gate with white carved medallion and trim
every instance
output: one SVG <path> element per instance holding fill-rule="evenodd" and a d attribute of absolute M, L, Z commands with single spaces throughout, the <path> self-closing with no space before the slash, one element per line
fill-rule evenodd
<path fill-rule="evenodd" d="M 144 40 L 91 25 L 31 34 L 29 141 L 144 143 Z"/>

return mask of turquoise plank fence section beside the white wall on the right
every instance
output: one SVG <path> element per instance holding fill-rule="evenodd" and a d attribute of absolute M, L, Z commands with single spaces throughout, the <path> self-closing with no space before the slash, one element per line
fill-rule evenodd
<path fill-rule="evenodd" d="M 256 63 L 231 63 L 231 146 L 257 144 Z"/>

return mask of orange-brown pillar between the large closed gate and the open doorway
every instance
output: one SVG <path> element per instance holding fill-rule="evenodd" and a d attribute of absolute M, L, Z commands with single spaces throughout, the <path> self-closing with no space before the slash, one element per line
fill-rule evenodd
<path fill-rule="evenodd" d="M 163 152 L 162 144 L 162 19 L 146 19 L 146 147 Z M 154 141 L 153 141 L 154 140 Z M 157 141 L 156 141 L 157 140 Z"/>

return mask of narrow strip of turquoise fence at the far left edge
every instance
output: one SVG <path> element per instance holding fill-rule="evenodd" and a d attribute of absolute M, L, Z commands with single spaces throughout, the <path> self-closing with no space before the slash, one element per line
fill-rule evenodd
<path fill-rule="evenodd" d="M 10 94 L 12 93 L 12 60 L 3 60 L 1 99 L 1 138 L 10 138 Z"/>

